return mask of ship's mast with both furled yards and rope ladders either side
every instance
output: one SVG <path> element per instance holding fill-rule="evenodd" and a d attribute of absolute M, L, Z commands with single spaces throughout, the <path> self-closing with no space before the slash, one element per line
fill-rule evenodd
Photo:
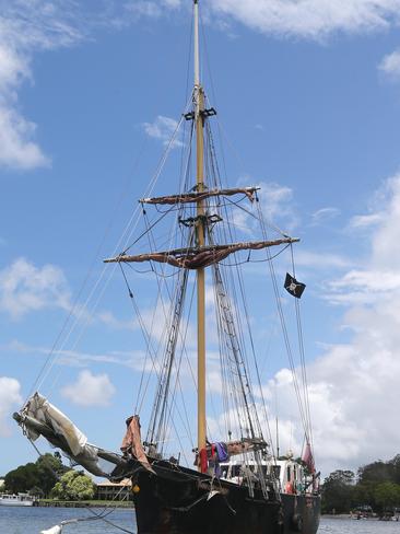
<path fill-rule="evenodd" d="M 198 390 L 198 453 L 201 456 L 201 452 L 205 450 L 207 445 L 207 419 L 205 419 L 205 268 L 215 264 L 219 264 L 224 258 L 230 256 L 231 254 L 238 253 L 239 251 L 260 251 L 263 248 L 268 248 L 271 246 L 280 246 L 280 245 L 289 245 L 291 243 L 295 243 L 298 241 L 296 237 L 290 237 L 289 235 L 282 234 L 281 237 L 272 240 L 272 241 L 252 241 L 252 242 L 239 242 L 239 243 L 225 243 L 225 244 L 215 244 L 215 243 L 205 243 L 205 234 L 208 230 L 208 221 L 212 220 L 215 216 L 209 216 L 207 212 L 207 198 L 214 197 L 214 196 L 232 196 L 232 195 L 245 195 L 249 199 L 249 201 L 257 200 L 256 191 L 258 187 L 236 187 L 234 189 L 208 189 L 207 185 L 204 184 L 204 121 L 208 117 L 215 115 L 216 112 L 213 107 L 210 109 L 205 108 L 205 96 L 204 90 L 201 85 L 200 81 L 200 50 L 199 50 L 199 1 L 193 0 L 193 36 L 195 36 L 195 88 L 192 93 L 193 98 L 193 111 L 191 113 L 185 114 L 185 118 L 187 120 L 192 120 L 192 126 L 195 128 L 196 134 L 196 187 L 190 191 L 179 193 L 177 195 L 169 195 L 164 197 L 152 197 L 152 198 L 143 198 L 140 201 L 142 204 L 153 204 L 153 205 L 185 205 L 185 204 L 192 204 L 193 208 L 196 208 L 196 217 L 190 217 L 186 220 L 181 220 L 179 218 L 179 222 L 185 225 L 195 225 L 195 237 L 196 243 L 188 243 L 189 246 L 185 248 L 169 248 L 167 251 L 151 251 L 149 253 L 142 254 L 127 254 L 128 247 L 125 252 L 119 254 L 116 257 L 104 259 L 105 263 L 141 263 L 141 262 L 156 262 L 162 264 L 168 264 L 170 266 L 180 268 L 180 269 L 195 269 L 196 277 L 197 277 L 197 390 Z M 191 212 L 192 213 L 192 212 Z M 222 220 L 222 219 L 219 219 Z M 136 243 L 136 242 L 134 242 Z M 195 245 L 195 246 L 192 246 Z M 224 309 L 224 321 L 230 325 L 233 323 L 231 318 L 231 311 L 228 306 L 228 301 L 225 295 L 225 290 L 223 287 L 223 282 L 221 276 L 217 275 L 217 282 L 220 287 L 220 300 L 222 302 L 222 307 Z M 186 283 L 186 282 L 185 282 Z M 181 301 L 180 299 L 176 303 L 176 313 L 174 316 L 180 316 L 181 311 Z M 179 311 L 180 310 L 180 311 Z M 179 324 L 174 324 L 172 328 L 173 334 L 177 333 L 179 328 Z M 175 334 L 174 334 L 175 335 Z M 160 379 L 160 388 L 157 398 L 158 400 L 163 398 L 163 403 L 166 403 L 168 391 L 169 391 L 169 378 L 170 378 L 170 370 L 172 364 L 174 362 L 174 352 L 176 347 L 176 338 L 170 337 L 172 347 L 168 350 L 169 358 L 166 360 L 167 364 L 165 365 L 165 375 Z M 235 364 L 237 367 L 237 372 L 240 378 L 240 390 L 246 398 L 246 391 L 248 390 L 247 385 L 247 378 L 246 372 L 242 373 L 242 369 L 244 365 L 244 360 L 240 355 L 240 348 L 238 347 L 237 343 L 233 341 L 236 339 L 236 334 L 234 328 L 228 328 L 228 335 L 231 336 L 230 347 L 234 352 Z M 168 341 L 169 343 L 169 341 Z M 242 373 L 242 374 L 240 374 Z M 245 376 L 244 380 L 242 380 Z M 163 382 L 164 381 L 164 382 Z M 246 391 L 245 391 L 246 390 Z M 165 409 L 158 410 L 160 402 L 155 403 L 153 416 L 152 416 L 152 431 L 150 441 L 154 442 L 154 429 L 155 429 L 155 421 L 158 418 L 162 422 L 160 427 L 163 425 Z M 249 428 L 251 429 L 252 420 L 251 415 L 249 413 L 249 407 L 247 402 L 245 400 L 246 405 L 246 413 L 248 418 Z M 160 432 L 158 432 L 160 433 Z M 251 437 L 255 438 L 255 432 L 251 430 Z M 160 436 L 158 436 L 160 438 Z M 157 438 L 157 442 L 160 439 Z M 202 469 L 202 462 L 200 458 L 199 462 L 199 471 Z"/>

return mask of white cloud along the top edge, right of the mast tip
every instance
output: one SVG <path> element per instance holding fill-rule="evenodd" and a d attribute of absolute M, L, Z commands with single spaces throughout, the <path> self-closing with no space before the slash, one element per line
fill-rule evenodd
<path fill-rule="evenodd" d="M 212 0 L 208 5 L 259 32 L 311 39 L 385 30 L 400 21 L 400 0 Z"/>

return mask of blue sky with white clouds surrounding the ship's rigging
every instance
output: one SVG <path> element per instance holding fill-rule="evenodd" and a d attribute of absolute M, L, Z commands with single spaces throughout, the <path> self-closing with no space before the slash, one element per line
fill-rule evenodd
<path fill-rule="evenodd" d="M 139 332 L 120 276 L 106 286 L 109 268 L 95 283 L 185 107 L 191 20 L 179 0 L 0 7 L 2 474 L 35 458 L 10 414 L 72 303 L 94 287 L 44 393 L 91 441 L 119 446 Z M 203 80 L 230 183 L 263 184 L 277 224 L 302 239 L 317 458 L 328 472 L 391 457 L 400 438 L 400 2 L 202 8 Z M 170 190 L 173 163 L 160 193 Z M 272 362 L 266 387 L 273 378 L 282 433 L 295 445 L 284 363 Z"/>

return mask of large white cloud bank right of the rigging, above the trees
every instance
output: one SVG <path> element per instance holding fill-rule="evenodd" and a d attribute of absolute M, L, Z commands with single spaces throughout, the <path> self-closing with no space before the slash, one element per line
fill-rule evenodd
<path fill-rule="evenodd" d="M 329 285 L 330 302 L 343 306 L 342 325 L 350 340 L 326 348 L 308 368 L 316 453 L 326 474 L 398 453 L 400 428 L 393 421 L 400 404 L 400 175 L 388 179 L 377 198 L 385 218 L 367 234 L 363 268 L 352 266 Z M 270 397 L 275 390 L 281 399 L 280 418 L 286 422 L 298 413 L 287 373 L 268 384 Z M 301 438 L 297 433 L 293 441 L 298 444 Z"/>

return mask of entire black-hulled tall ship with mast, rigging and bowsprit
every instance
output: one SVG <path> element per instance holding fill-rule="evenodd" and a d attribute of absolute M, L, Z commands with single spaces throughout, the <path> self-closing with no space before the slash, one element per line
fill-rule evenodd
<path fill-rule="evenodd" d="M 223 177 L 199 33 L 195 0 L 193 89 L 129 241 L 105 259 L 119 268 L 143 333 L 142 378 L 121 450 L 91 444 L 39 392 L 14 418 L 31 441 L 44 437 L 93 475 L 130 478 L 138 534 L 315 534 L 320 495 L 299 314 L 305 285 L 294 260 L 299 240 L 270 222 L 262 188 L 232 187 Z M 176 148 L 179 183 L 166 186 L 158 178 Z M 142 310 L 149 299 L 137 298 L 144 285 L 155 295 L 151 321 Z M 271 419 L 266 338 L 254 315 L 263 301 L 273 305 L 274 339 L 298 405 L 297 454 L 281 453 L 280 421 Z"/>

